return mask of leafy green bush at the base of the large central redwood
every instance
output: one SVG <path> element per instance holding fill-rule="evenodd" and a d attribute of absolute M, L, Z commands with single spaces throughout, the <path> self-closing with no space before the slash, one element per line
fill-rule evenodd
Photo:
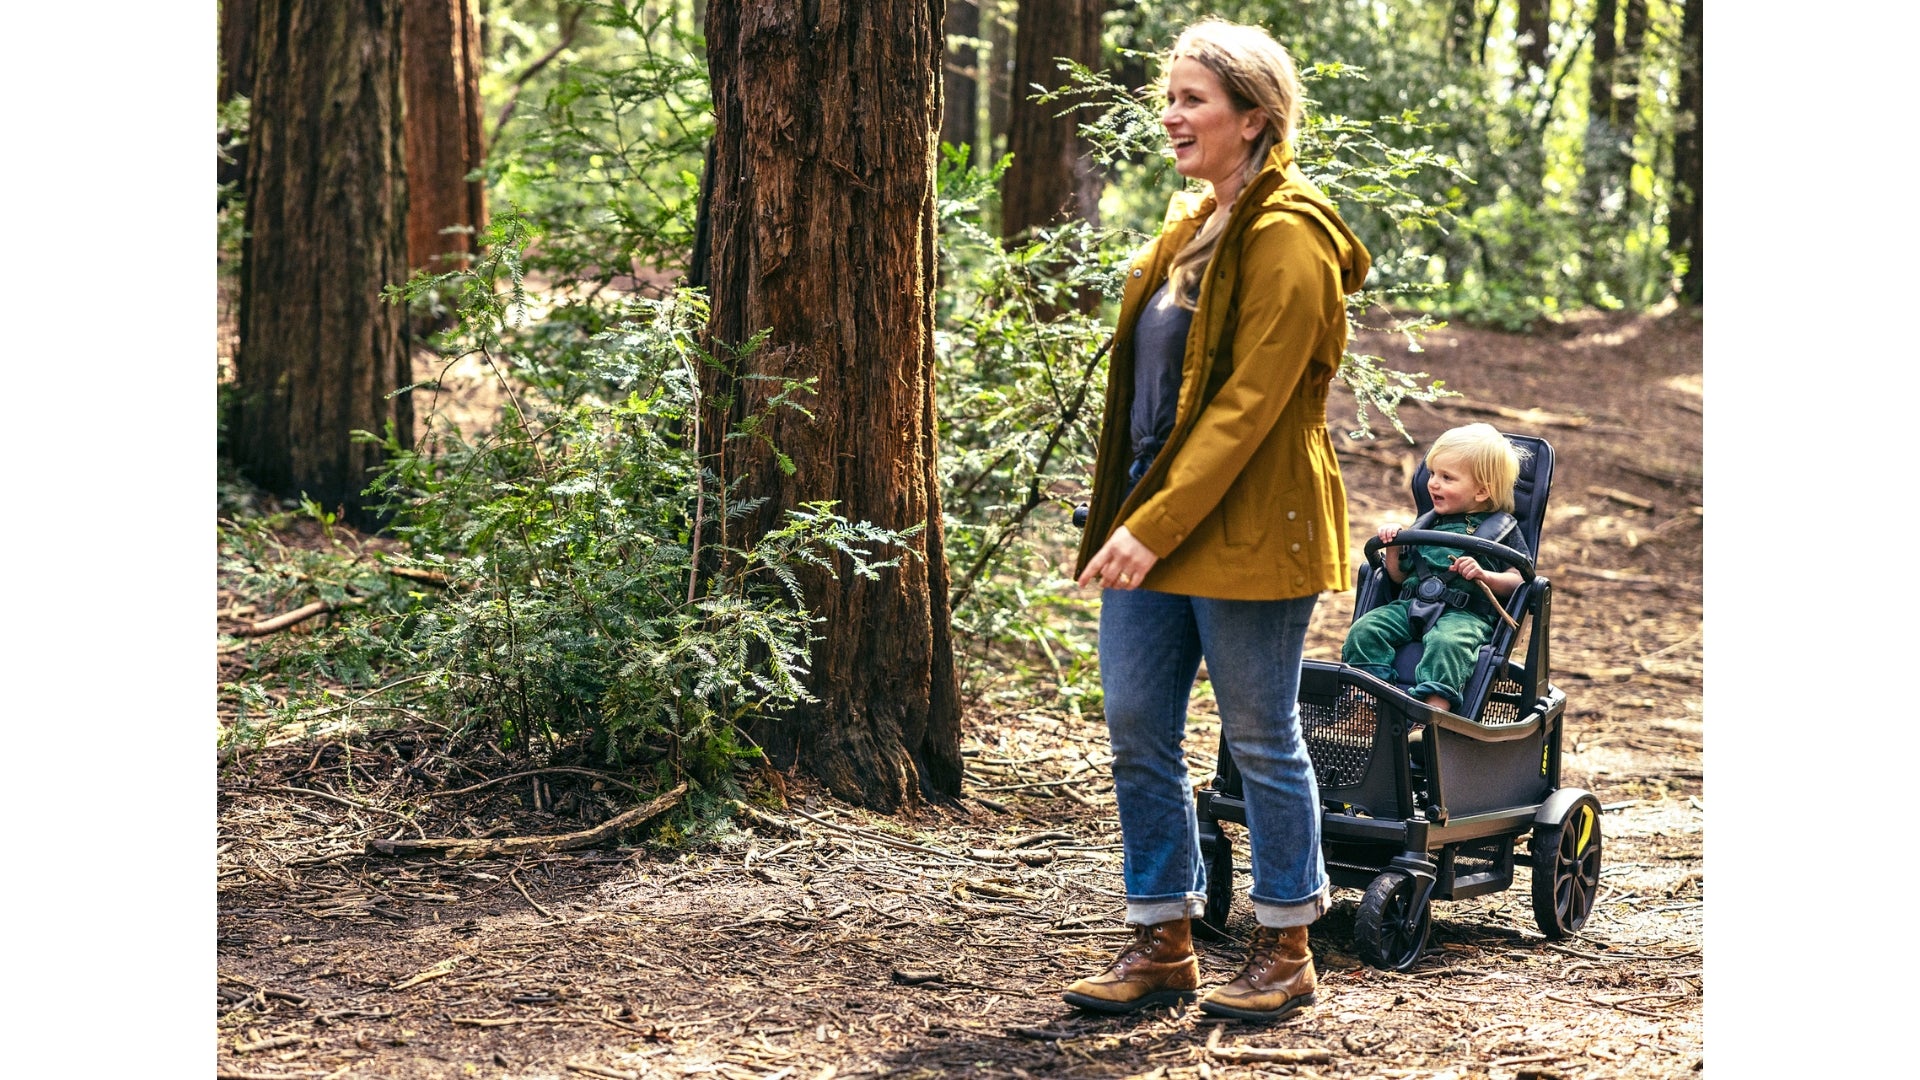
<path fill-rule="evenodd" d="M 507 746 L 584 738 L 660 782 L 726 784 L 756 755 L 737 724 L 812 700 L 803 676 L 818 617 L 797 571 L 833 573 L 841 555 L 872 578 L 897 561 L 876 552 L 902 536 L 826 503 L 787 509 L 783 527 L 749 544 L 701 530 L 755 503 L 737 496 L 743 477 L 714 475 L 693 446 L 697 369 L 716 363 L 699 344 L 697 292 L 630 300 L 593 338 L 584 375 L 605 394 L 520 388 L 520 252 L 532 238 L 524 219 L 501 215 L 470 271 L 407 286 L 457 288 L 459 325 L 444 348 L 482 359 L 509 398 L 486 434 L 436 427 L 420 450 L 390 434 L 372 484 L 413 565 L 449 580 L 405 626 L 415 665 L 440 688 L 422 705 Z M 804 390 L 783 384 L 764 407 L 799 407 Z M 758 438 L 758 421 L 726 438 Z M 714 534 L 697 550 L 697 536 Z M 703 559 L 718 569 L 697 575 Z"/>

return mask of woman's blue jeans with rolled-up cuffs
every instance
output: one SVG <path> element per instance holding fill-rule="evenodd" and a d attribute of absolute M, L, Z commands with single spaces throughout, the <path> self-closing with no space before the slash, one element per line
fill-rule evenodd
<path fill-rule="evenodd" d="M 1246 782 L 1254 917 L 1261 926 L 1306 926 L 1327 911 L 1319 786 L 1298 701 L 1315 600 L 1100 592 L 1100 688 L 1114 744 L 1127 922 L 1206 911 L 1206 865 L 1181 749 L 1202 657 L 1221 736 Z"/>

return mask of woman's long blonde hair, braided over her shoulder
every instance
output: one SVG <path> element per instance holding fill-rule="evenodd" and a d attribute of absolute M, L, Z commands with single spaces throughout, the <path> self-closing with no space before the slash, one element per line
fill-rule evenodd
<path fill-rule="evenodd" d="M 1210 15 L 1187 27 L 1167 52 L 1160 73 L 1160 90 L 1165 90 L 1167 73 L 1173 61 L 1192 60 L 1219 79 L 1233 108 L 1244 111 L 1261 110 L 1267 127 L 1254 140 L 1252 152 L 1242 165 L 1242 186 L 1252 183 L 1267 154 L 1279 144 L 1290 144 L 1300 131 L 1300 117 L 1306 111 L 1306 96 L 1300 90 L 1300 71 L 1286 46 L 1273 40 L 1261 27 L 1229 23 Z M 1227 215 L 1221 213 L 1200 227 L 1200 233 L 1173 256 L 1173 271 L 1167 277 L 1167 292 L 1173 302 L 1188 311 L 1198 309 L 1200 275 L 1206 273 L 1219 234 L 1227 229 Z"/>

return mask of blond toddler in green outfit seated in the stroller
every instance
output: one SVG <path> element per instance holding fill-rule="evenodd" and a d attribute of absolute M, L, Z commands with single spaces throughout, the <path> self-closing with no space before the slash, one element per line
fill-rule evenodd
<path fill-rule="evenodd" d="M 1448 430 L 1427 452 L 1427 494 L 1432 496 L 1434 521 L 1425 528 L 1440 532 L 1473 532 L 1496 511 L 1513 513 L 1513 482 L 1521 475 L 1521 452 L 1494 425 L 1467 425 Z M 1392 542 L 1404 527 L 1386 523 L 1380 540 Z M 1517 528 L 1500 538 L 1501 544 L 1532 557 Z M 1480 592 L 1484 582 L 1494 596 L 1505 600 L 1521 586 L 1521 573 L 1480 565 L 1459 550 L 1430 544 L 1382 548 L 1386 577 L 1404 586 L 1400 600 L 1367 611 L 1346 636 L 1340 661 L 1367 675 L 1394 682 L 1394 651 L 1415 640 L 1427 642 L 1413 669 L 1415 698 L 1438 709 L 1457 711 L 1459 696 L 1473 675 L 1480 646 L 1494 634 L 1500 619 Z M 1421 582 L 1427 600 L 1419 596 Z"/>

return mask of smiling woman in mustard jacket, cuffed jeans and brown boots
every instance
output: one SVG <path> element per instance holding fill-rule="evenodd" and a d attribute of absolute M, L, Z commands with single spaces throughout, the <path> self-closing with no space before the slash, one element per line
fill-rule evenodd
<path fill-rule="evenodd" d="M 1133 942 L 1068 988 L 1083 1009 L 1190 1001 L 1206 869 L 1181 740 L 1202 657 L 1246 780 L 1260 922 L 1206 1013 L 1313 1003 L 1308 924 L 1327 909 L 1319 790 L 1300 738 L 1300 653 L 1323 590 L 1348 588 L 1346 488 L 1327 388 L 1344 294 L 1371 258 L 1300 173 L 1302 92 L 1263 29 L 1206 19 L 1173 44 L 1160 121 L 1173 198 L 1127 269 L 1077 578 L 1100 582 L 1100 684 Z"/>

